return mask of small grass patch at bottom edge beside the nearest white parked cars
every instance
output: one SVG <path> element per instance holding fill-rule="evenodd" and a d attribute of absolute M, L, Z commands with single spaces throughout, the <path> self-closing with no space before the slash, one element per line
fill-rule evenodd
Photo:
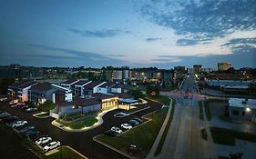
<path fill-rule="evenodd" d="M 82 156 L 74 152 L 72 149 L 68 148 L 67 146 L 61 146 L 57 148 L 59 151 L 55 154 L 50 154 L 46 156 L 46 159 L 56 159 L 56 158 L 63 158 L 63 159 L 83 159 Z"/>

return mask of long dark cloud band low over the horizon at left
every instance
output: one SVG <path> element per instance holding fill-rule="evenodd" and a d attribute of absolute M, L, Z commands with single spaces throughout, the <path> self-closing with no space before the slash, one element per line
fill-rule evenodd
<path fill-rule="evenodd" d="M 98 53 L 89 53 L 89 52 L 83 52 L 83 51 L 77 51 L 72 49 L 66 49 L 66 48 L 58 48 L 58 47 L 52 47 L 47 45 L 26 45 L 29 48 L 36 48 L 35 53 L 22 53 L 20 54 L 23 57 L 26 57 L 27 59 L 36 59 L 38 62 L 37 65 L 43 64 L 44 65 L 56 65 L 56 64 L 62 64 L 62 65 L 87 65 L 87 66 L 95 66 L 95 67 L 101 67 L 104 65 L 126 65 L 127 62 L 111 58 L 108 55 L 102 55 Z M 18 55 L 17 55 L 18 56 Z M 40 59 L 40 60 L 37 60 Z M 28 60 L 26 60 L 28 61 Z M 29 60 L 31 61 L 31 60 Z"/>

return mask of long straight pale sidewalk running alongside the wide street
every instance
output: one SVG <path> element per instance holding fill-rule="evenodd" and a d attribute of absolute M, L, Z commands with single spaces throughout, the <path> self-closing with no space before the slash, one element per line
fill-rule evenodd
<path fill-rule="evenodd" d="M 154 142 L 154 144 L 152 145 L 151 149 L 150 149 L 150 152 L 148 153 L 146 159 L 151 159 L 151 158 L 154 158 L 154 154 L 159 146 L 159 142 L 160 142 L 160 139 L 164 133 L 164 130 L 166 128 L 166 125 L 168 124 L 168 121 L 169 121 L 169 115 L 170 115 L 170 112 L 171 112 L 171 109 L 173 108 L 172 106 L 172 103 L 173 103 L 173 99 L 169 98 L 171 101 L 169 102 L 169 110 L 168 110 L 168 113 L 166 115 L 166 118 L 165 118 L 165 121 L 164 123 L 162 124 L 161 126 L 161 129 L 159 130 L 159 134 Z"/>

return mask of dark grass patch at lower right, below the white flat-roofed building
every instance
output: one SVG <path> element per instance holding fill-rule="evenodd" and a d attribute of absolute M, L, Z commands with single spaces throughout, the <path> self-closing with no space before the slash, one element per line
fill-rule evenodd
<path fill-rule="evenodd" d="M 212 139 L 216 144 L 234 145 L 235 138 L 256 143 L 255 134 L 247 134 L 220 127 L 210 127 L 210 132 L 212 135 Z"/>

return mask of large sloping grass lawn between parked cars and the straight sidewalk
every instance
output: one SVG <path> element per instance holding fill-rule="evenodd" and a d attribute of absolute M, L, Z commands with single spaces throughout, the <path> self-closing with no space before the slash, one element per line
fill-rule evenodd
<path fill-rule="evenodd" d="M 146 117 L 151 118 L 151 121 L 146 124 L 140 124 L 138 127 L 133 128 L 124 134 L 120 134 L 117 137 L 109 137 L 102 134 L 97 136 L 97 140 L 109 144 L 119 150 L 125 148 L 129 144 L 136 144 L 148 154 L 148 151 L 159 134 L 159 130 L 165 120 L 167 110 L 168 108 L 164 108 L 153 114 L 148 114 Z"/>

